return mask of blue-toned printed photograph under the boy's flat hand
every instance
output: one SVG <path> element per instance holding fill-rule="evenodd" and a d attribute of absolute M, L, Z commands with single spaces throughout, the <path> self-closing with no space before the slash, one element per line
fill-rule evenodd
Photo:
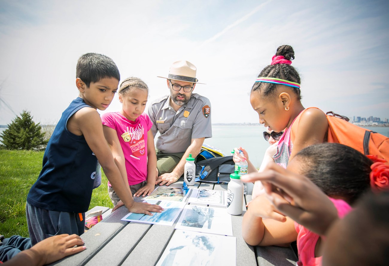
<path fill-rule="evenodd" d="M 143 202 L 159 205 L 164 208 L 164 210 L 162 212 L 153 212 L 152 216 L 147 214 L 134 214 L 130 212 L 121 220 L 129 222 L 145 222 L 147 224 L 161 224 L 166 226 L 172 226 L 186 204 L 185 202 L 157 200 L 144 200 Z"/>

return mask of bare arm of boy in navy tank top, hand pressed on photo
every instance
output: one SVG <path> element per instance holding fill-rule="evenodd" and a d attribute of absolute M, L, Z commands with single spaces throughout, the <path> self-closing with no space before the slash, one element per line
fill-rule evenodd
<path fill-rule="evenodd" d="M 81 108 L 72 117 L 73 126 L 79 128 L 89 147 L 95 154 L 114 191 L 130 212 L 152 215 L 151 212 L 161 212 L 158 205 L 134 202 L 128 193 L 128 182 L 124 183 L 119 168 L 117 168 L 103 133 L 100 115 L 93 108 Z M 68 122 L 68 123 L 69 123 Z"/>

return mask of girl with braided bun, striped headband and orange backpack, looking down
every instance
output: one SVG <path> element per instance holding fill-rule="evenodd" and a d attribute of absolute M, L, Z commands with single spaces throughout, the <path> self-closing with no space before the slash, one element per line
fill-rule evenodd
<path fill-rule="evenodd" d="M 251 89 L 250 103 L 259 115 L 259 122 L 275 132 L 284 131 L 279 140 L 274 161 L 286 168 L 301 149 L 326 142 L 328 122 L 319 109 L 305 110 L 301 104 L 300 76 L 291 66 L 294 51 L 291 46 L 277 48 L 272 64 L 266 66 Z M 300 115 L 295 134 L 291 134 L 294 119 Z M 246 156 L 244 154 L 244 156 Z"/>

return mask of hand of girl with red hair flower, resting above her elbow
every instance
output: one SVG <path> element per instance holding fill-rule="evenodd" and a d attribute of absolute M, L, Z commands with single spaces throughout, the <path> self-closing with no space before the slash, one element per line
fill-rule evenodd
<path fill-rule="evenodd" d="M 265 194 L 259 195 L 250 201 L 248 211 L 258 217 L 270 218 L 280 222 L 286 221 L 285 215 L 277 211 L 274 205 L 266 198 Z"/>

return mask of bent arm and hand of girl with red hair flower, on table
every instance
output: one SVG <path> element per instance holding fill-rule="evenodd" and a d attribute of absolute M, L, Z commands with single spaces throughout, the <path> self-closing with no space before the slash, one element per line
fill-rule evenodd
<path fill-rule="evenodd" d="M 252 246 L 288 246 L 297 239 L 297 232 L 291 218 L 275 212 L 273 205 L 259 196 L 251 201 L 243 216 L 242 236 Z"/>

